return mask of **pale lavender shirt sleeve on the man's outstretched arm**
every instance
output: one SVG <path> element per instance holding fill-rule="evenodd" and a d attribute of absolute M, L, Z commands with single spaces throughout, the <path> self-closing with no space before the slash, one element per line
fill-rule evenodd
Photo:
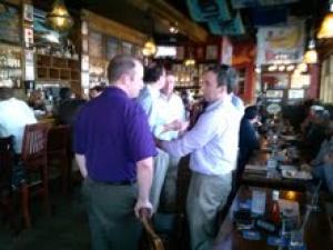
<path fill-rule="evenodd" d="M 218 133 L 218 126 L 223 126 L 221 122 L 223 121 L 202 114 L 195 126 L 183 137 L 173 141 L 162 141 L 161 147 L 174 157 L 186 156 L 212 140 Z"/>

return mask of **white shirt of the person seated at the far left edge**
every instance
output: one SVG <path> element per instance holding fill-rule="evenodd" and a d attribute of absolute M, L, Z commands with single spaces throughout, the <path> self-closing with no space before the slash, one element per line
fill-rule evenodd
<path fill-rule="evenodd" d="M 33 111 L 16 98 L 0 101 L 0 137 L 13 136 L 13 148 L 21 152 L 26 124 L 36 123 Z"/>

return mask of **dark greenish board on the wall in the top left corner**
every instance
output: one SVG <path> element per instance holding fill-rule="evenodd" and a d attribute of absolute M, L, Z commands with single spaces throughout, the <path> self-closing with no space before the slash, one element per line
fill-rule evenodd
<path fill-rule="evenodd" d="M 17 43 L 21 42 L 20 11 L 17 7 L 0 3 L 0 41 Z"/>

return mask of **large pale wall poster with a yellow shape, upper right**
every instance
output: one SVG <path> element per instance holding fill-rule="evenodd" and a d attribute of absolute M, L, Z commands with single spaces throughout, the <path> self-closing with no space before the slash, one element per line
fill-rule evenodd
<path fill-rule="evenodd" d="M 260 28 L 256 34 L 258 64 L 299 63 L 304 50 L 304 23 Z"/>

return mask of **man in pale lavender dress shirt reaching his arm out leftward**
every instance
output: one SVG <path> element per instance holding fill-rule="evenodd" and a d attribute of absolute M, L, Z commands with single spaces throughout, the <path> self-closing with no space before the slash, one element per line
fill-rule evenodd
<path fill-rule="evenodd" d="M 213 248 L 216 214 L 231 191 L 241 121 L 241 113 L 230 97 L 236 79 L 235 70 L 230 67 L 210 68 L 202 84 L 203 97 L 209 102 L 205 111 L 183 137 L 160 142 L 172 156 L 191 153 L 186 211 L 192 250 Z"/>

